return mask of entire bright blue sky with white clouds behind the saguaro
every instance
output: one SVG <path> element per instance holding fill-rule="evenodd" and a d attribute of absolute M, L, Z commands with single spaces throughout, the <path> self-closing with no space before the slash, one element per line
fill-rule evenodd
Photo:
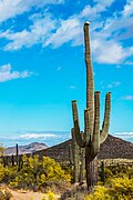
<path fill-rule="evenodd" d="M 86 20 L 101 123 L 111 91 L 110 132 L 133 140 L 133 1 L 0 0 L 2 142 L 69 139 L 73 99 L 83 128 Z"/>

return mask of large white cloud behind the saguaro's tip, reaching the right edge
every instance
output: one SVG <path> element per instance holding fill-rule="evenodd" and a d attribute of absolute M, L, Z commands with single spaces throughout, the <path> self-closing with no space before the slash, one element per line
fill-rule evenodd
<path fill-rule="evenodd" d="M 94 7 L 86 6 L 79 16 L 72 16 L 66 20 L 61 21 L 61 26 L 47 40 L 44 46 L 51 44 L 53 48 L 60 47 L 63 43 L 71 42 L 72 46 L 80 46 L 83 42 L 82 24 L 84 19 L 92 21 L 91 31 L 91 47 L 93 58 L 99 63 L 123 63 L 124 60 L 133 54 L 133 48 L 124 48 L 120 39 L 126 39 L 132 36 L 133 21 L 131 18 L 113 17 L 102 20 L 101 16 L 95 19 L 95 16 L 101 14 L 113 3 L 111 1 L 95 1 Z M 94 21 L 94 22 L 93 22 Z M 96 31 L 100 29 L 100 31 Z M 125 29 L 124 33 L 121 33 Z M 115 32 L 115 34 L 114 34 Z"/>

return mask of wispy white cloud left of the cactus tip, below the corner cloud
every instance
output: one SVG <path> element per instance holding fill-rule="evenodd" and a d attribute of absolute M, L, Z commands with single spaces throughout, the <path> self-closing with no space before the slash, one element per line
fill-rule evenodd
<path fill-rule="evenodd" d="M 55 21 L 51 19 L 50 14 L 43 18 L 37 16 L 32 18 L 33 24 L 30 30 L 22 30 L 21 32 L 6 31 L 1 32 L 0 37 L 8 39 L 10 42 L 4 47 L 4 50 L 18 50 L 22 47 L 31 47 L 35 43 L 43 43 L 47 37 L 55 27 Z"/>

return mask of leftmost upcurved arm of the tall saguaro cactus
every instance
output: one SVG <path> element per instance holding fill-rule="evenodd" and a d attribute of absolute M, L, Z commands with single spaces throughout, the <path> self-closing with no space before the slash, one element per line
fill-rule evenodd
<path fill-rule="evenodd" d="M 85 147 L 85 143 L 82 139 L 81 132 L 80 132 L 80 124 L 79 124 L 79 116 L 78 116 L 78 107 L 76 101 L 72 101 L 72 112 L 73 112 L 73 123 L 74 123 L 74 133 L 75 133 L 75 140 L 81 148 Z"/>

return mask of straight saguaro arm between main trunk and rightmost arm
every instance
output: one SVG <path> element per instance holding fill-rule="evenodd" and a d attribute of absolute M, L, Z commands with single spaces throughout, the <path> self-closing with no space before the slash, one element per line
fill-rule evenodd
<path fill-rule="evenodd" d="M 92 138 L 92 152 L 93 157 L 100 150 L 100 92 L 94 92 L 94 130 Z"/>

